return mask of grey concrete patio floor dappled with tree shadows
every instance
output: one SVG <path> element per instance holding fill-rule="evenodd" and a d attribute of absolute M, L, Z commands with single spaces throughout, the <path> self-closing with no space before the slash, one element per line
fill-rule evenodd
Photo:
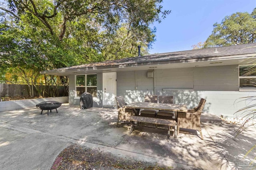
<path fill-rule="evenodd" d="M 63 104 L 58 113 L 36 108 L 0 112 L 0 169 L 49 170 L 58 154 L 78 144 L 100 148 L 116 156 L 138 161 L 157 162 L 175 170 L 252 169 L 256 156 L 256 129 L 250 127 L 235 138 L 238 125 L 222 122 L 211 114 L 202 114 L 202 134 L 187 130 L 167 141 L 167 130 L 130 125 L 116 127 L 117 109 L 90 108 Z M 182 129 L 181 129 L 182 130 Z M 186 129 L 183 129 L 186 130 Z"/>

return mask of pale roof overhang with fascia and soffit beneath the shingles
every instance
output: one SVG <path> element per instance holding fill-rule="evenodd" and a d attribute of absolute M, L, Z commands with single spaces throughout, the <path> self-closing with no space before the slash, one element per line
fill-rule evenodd
<path fill-rule="evenodd" d="M 91 64 L 91 66 L 88 67 L 85 66 L 80 68 L 58 68 L 53 70 L 45 70 L 40 73 L 56 76 L 69 76 L 72 74 L 92 74 L 100 72 L 122 72 L 133 70 L 188 68 L 234 64 L 256 64 L 256 53 L 221 57 L 206 57 L 200 59 L 180 59 L 145 63 L 112 64 L 107 66 L 93 66 L 93 64 Z"/>

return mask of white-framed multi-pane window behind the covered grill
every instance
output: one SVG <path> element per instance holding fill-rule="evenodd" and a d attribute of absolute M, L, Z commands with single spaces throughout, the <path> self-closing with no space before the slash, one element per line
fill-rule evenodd
<path fill-rule="evenodd" d="M 97 74 L 76 75 L 76 97 L 88 92 L 97 97 Z"/>

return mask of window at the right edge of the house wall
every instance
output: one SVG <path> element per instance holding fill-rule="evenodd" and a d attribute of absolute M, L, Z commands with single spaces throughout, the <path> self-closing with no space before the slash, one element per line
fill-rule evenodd
<path fill-rule="evenodd" d="M 256 64 L 239 65 L 239 87 L 256 88 Z"/>

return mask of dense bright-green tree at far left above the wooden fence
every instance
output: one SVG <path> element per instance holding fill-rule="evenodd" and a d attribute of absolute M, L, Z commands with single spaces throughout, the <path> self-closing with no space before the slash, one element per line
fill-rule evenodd
<path fill-rule="evenodd" d="M 0 22 L 0 64 L 3 72 L 16 70 L 28 84 L 30 96 L 34 96 L 34 84 L 41 70 L 52 67 L 53 64 L 66 65 L 67 55 L 62 55 L 62 49 L 53 45 L 47 32 L 36 30 L 30 25 L 26 15 L 20 21 L 12 20 L 12 16 L 2 14 Z M 31 20 L 30 22 L 35 22 Z M 39 23 L 40 24 L 40 23 Z M 46 56 L 51 56 L 49 59 Z M 13 68 L 13 69 L 10 69 Z M 2 71 L 1 70 L 1 71 Z M 17 74 L 16 74 L 17 75 Z"/>

